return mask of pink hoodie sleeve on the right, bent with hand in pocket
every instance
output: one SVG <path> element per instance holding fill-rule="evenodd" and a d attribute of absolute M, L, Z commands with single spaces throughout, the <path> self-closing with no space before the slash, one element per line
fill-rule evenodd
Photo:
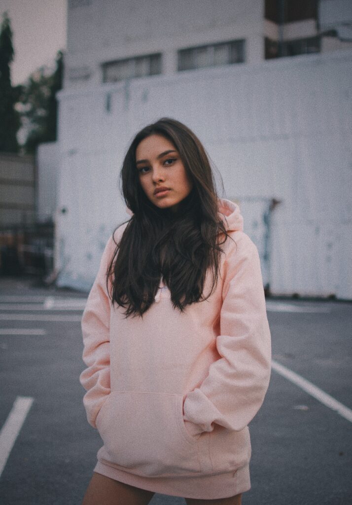
<path fill-rule="evenodd" d="M 224 274 L 220 335 L 221 358 L 184 401 L 184 419 L 193 434 L 212 431 L 214 423 L 239 431 L 260 409 L 269 385 L 270 330 L 257 247 L 243 232 L 234 234 Z M 194 426 L 195 425 L 195 426 Z"/>

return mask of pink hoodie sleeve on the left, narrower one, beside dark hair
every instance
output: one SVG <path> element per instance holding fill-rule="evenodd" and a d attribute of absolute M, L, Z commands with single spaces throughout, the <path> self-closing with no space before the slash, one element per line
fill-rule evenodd
<path fill-rule="evenodd" d="M 115 243 L 110 237 L 83 312 L 83 361 L 87 368 L 80 382 L 87 390 L 83 397 L 89 424 L 94 428 L 95 418 L 110 393 L 110 298 L 106 273 L 114 254 Z"/>

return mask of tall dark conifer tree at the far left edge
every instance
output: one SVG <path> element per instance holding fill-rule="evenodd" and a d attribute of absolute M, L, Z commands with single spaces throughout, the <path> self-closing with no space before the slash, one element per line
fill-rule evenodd
<path fill-rule="evenodd" d="M 0 28 L 0 151 L 18 152 L 17 131 L 20 128 L 20 115 L 15 104 L 21 93 L 21 86 L 11 84 L 10 65 L 15 51 L 12 45 L 11 22 L 7 13 L 3 14 Z"/>

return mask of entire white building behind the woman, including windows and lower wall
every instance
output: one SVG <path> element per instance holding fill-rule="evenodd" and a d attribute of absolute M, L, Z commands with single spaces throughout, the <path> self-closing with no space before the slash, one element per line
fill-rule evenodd
<path fill-rule="evenodd" d="M 91 285 L 128 218 L 117 185 L 128 144 L 169 116 L 195 131 L 239 201 L 272 293 L 352 297 L 350 3 L 276 5 L 69 2 L 59 285 Z"/>

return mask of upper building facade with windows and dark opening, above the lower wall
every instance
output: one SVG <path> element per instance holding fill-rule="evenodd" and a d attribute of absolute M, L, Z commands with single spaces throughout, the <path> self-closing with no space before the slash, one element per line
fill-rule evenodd
<path fill-rule="evenodd" d="M 69 0 L 65 85 L 352 47 L 349 0 Z"/>

